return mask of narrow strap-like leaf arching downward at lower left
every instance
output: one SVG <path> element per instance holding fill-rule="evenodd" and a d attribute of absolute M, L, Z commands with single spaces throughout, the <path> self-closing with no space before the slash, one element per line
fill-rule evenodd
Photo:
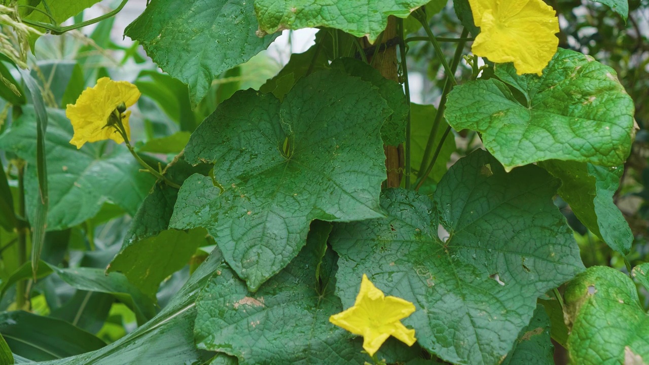
<path fill-rule="evenodd" d="M 59 269 L 52 267 L 58 276 L 67 284 L 79 290 L 111 294 L 132 310 L 138 324 L 142 325 L 156 314 L 151 298 L 145 296 L 138 288 L 129 283 L 121 273 L 109 273 L 95 268 Z"/>

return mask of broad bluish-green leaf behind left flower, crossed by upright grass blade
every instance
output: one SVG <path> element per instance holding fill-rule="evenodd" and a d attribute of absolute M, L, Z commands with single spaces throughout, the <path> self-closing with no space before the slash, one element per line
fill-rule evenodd
<path fill-rule="evenodd" d="M 35 164 L 36 116 L 31 108 L 24 108 L 23 112 L 20 120 L 0 136 L 0 148 Z M 104 142 L 86 144 L 78 150 L 69 144 L 72 125 L 64 111 L 49 109 L 47 114 L 50 122 L 45 136 L 49 186 L 47 230 L 66 229 L 92 218 L 106 200 L 135 214 L 154 183 L 153 176 L 139 171 L 140 164 L 123 145 L 114 145 L 107 153 L 101 152 L 108 147 Z M 25 175 L 27 208 L 33 216 L 40 199 L 36 171 L 28 168 Z"/>

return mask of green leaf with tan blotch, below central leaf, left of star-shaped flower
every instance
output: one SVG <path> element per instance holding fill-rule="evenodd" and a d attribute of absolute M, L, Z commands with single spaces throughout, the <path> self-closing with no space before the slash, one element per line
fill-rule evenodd
<path fill-rule="evenodd" d="M 320 222 L 321 223 L 321 222 Z M 341 312 L 334 294 L 336 254 L 326 247 L 331 229 L 314 222 L 308 243 L 291 263 L 256 293 L 249 292 L 227 264 L 219 267 L 197 299 L 194 327 L 197 346 L 238 357 L 239 364 L 363 364 L 361 341 L 329 322 Z M 319 279 L 318 279 L 319 278 Z M 356 283 L 358 284 L 358 283 Z M 401 357 L 417 357 L 403 344 Z M 412 351 L 415 350 L 415 351 Z"/>

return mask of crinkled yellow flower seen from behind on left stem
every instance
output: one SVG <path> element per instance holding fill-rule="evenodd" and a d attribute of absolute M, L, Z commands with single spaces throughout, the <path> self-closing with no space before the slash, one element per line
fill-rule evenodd
<path fill-rule="evenodd" d="M 77 103 L 68 104 L 66 116 L 72 123 L 75 134 L 70 143 L 81 148 L 86 142 L 114 140 L 124 142 L 114 125 L 109 125 L 109 117 L 116 108 L 124 103 L 131 107 L 140 99 L 138 87 L 127 81 L 112 81 L 102 77 L 93 88 L 86 88 L 79 95 Z M 121 121 L 127 137 L 130 138 L 130 110 L 121 114 Z"/>

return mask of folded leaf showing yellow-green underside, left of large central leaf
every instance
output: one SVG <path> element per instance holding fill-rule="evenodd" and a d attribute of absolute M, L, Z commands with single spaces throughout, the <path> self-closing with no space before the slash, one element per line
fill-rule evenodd
<path fill-rule="evenodd" d="M 166 168 L 166 176 L 178 184 L 193 173 L 206 174 L 208 165 L 192 167 L 179 156 Z M 158 182 L 133 217 L 129 232 L 107 272 L 120 271 L 149 297 L 155 297 L 161 281 L 185 266 L 204 241 L 204 230 L 170 229 L 169 219 L 178 190 Z"/>

